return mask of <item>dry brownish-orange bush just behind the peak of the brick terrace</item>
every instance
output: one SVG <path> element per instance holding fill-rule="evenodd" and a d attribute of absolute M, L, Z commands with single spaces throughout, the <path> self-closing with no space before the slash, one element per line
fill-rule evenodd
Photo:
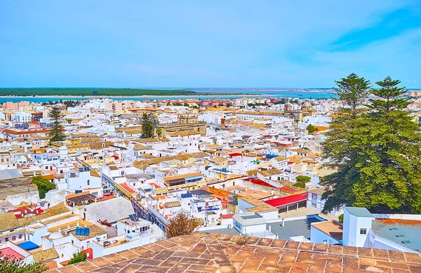
<path fill-rule="evenodd" d="M 189 235 L 201 225 L 201 219 L 196 219 L 187 213 L 178 213 L 168 220 L 165 234 L 167 238 Z"/>

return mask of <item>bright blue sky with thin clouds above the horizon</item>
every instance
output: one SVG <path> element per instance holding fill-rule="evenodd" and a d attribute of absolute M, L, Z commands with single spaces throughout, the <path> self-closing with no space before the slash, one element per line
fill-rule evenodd
<path fill-rule="evenodd" d="M 419 0 L 3 0 L 0 87 L 421 88 L 420 18 Z"/>

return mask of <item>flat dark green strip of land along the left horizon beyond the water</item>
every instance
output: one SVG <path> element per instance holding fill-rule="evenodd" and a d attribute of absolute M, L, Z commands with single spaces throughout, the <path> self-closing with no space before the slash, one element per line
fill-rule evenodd
<path fill-rule="evenodd" d="M 194 95 L 187 90 L 154 90 L 135 88 L 0 88 L 2 95 L 34 96 L 34 95 Z"/>

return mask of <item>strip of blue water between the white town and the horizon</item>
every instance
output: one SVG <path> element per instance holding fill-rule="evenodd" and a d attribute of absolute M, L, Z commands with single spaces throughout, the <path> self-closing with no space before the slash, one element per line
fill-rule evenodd
<path fill-rule="evenodd" d="M 152 89 L 152 88 L 151 88 Z M 196 91 L 194 96 L 138 96 L 138 97 L 110 97 L 112 100 L 187 100 L 187 99 L 197 99 L 197 100 L 208 100 L 208 99 L 232 99 L 232 98 L 300 98 L 300 99 L 328 99 L 328 98 L 337 98 L 338 96 L 335 93 L 317 89 L 317 90 L 284 90 L 280 88 L 253 88 L 253 89 L 213 89 L 213 88 L 191 88 L 187 90 Z M 201 93 L 206 93 L 200 95 Z M 215 95 L 210 95 L 210 93 Z M 229 93 L 230 95 L 223 95 Z M 237 95 L 238 94 L 238 95 Z M 90 100 L 95 98 L 93 96 L 89 97 L 0 97 L 0 103 L 4 102 L 50 102 L 58 100 Z M 99 98 L 99 97 L 98 97 Z M 101 97 L 104 98 L 104 97 Z"/>

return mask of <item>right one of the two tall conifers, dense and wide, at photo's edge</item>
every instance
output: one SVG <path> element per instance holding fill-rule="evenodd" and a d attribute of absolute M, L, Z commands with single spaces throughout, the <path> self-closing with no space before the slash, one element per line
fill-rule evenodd
<path fill-rule="evenodd" d="M 399 80 L 387 76 L 371 93 L 369 129 L 363 141 L 361 178 L 353 188 L 354 206 L 372 211 L 421 213 L 421 131 L 406 110 Z"/>

